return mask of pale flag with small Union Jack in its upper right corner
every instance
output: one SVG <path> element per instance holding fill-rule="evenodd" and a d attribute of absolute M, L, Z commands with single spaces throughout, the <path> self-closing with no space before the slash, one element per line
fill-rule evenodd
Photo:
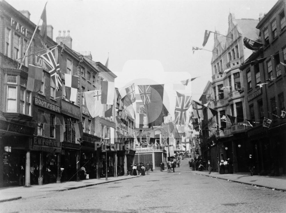
<path fill-rule="evenodd" d="M 103 116 L 103 107 L 101 104 L 101 90 L 84 92 L 86 107 L 92 118 Z"/>

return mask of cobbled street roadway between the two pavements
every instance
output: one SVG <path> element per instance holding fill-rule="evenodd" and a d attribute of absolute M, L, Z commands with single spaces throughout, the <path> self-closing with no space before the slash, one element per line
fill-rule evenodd
<path fill-rule="evenodd" d="M 150 175 L 0 203 L 1 212 L 285 212 L 285 192 L 197 175 Z M 255 176 L 253 176 L 255 178 Z"/>

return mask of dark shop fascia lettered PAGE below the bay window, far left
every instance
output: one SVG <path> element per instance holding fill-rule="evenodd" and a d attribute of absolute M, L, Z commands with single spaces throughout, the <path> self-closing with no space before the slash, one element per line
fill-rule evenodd
<path fill-rule="evenodd" d="M 8 132 L 20 133 L 23 135 L 33 135 L 35 131 L 35 128 L 33 127 L 24 126 L 17 123 L 11 123 L 4 120 L 1 120 L 0 122 L 0 129 Z"/>

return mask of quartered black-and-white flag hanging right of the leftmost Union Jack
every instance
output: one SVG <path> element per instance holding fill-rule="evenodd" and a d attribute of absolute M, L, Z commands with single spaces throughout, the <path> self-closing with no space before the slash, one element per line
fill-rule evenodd
<path fill-rule="evenodd" d="M 72 76 L 65 73 L 65 98 L 76 102 L 78 93 L 78 76 Z"/>

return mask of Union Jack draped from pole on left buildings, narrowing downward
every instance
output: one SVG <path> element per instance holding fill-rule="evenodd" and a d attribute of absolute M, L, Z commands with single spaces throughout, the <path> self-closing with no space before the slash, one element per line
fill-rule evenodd
<path fill-rule="evenodd" d="M 57 58 L 57 46 L 48 52 L 40 55 L 43 58 L 43 63 L 47 65 L 47 70 L 51 76 L 54 78 L 55 86 L 57 91 L 59 91 L 59 86 L 62 86 L 61 83 L 61 70 L 59 68 L 58 58 Z"/>

